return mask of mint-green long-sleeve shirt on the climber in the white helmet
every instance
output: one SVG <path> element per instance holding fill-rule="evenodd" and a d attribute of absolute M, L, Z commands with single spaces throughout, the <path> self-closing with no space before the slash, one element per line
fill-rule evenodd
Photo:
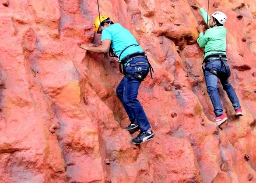
<path fill-rule="evenodd" d="M 203 8 L 200 8 L 199 11 L 205 22 L 207 22 L 207 16 L 208 20 L 210 20 L 210 16 Z M 207 25 L 209 25 L 209 22 L 207 22 Z M 223 26 L 213 27 L 207 29 L 205 34 L 203 34 L 203 32 L 199 34 L 197 43 L 199 44 L 200 47 L 204 47 L 204 53 L 209 51 L 206 54 L 204 54 L 204 58 L 210 54 L 225 54 L 226 35 L 227 30 Z"/>

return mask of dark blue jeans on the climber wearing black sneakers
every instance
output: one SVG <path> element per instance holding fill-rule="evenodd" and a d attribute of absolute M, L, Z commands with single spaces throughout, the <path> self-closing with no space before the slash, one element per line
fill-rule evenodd
<path fill-rule="evenodd" d="M 149 66 L 146 58 L 133 58 L 125 68 L 126 72 L 137 73 L 141 75 L 147 75 L 149 72 Z M 116 88 L 116 95 L 123 103 L 123 107 L 129 116 L 130 121 L 137 119 L 137 124 L 140 131 L 144 132 L 151 128 L 147 116 L 137 99 L 138 90 L 141 81 L 137 80 L 131 75 L 126 75 L 120 81 Z"/>

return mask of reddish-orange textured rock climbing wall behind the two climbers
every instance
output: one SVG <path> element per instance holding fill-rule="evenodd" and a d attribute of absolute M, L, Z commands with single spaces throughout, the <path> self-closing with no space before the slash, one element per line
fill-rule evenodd
<path fill-rule="evenodd" d="M 192 0 L 99 1 L 154 68 L 139 93 L 154 140 L 130 144 L 118 63 L 77 46 L 100 43 L 96 0 L 1 1 L 0 183 L 256 181 L 256 0 L 210 0 L 210 13 L 228 16 L 230 80 L 245 113 L 235 117 L 220 87 L 223 130 L 210 121 Z"/>

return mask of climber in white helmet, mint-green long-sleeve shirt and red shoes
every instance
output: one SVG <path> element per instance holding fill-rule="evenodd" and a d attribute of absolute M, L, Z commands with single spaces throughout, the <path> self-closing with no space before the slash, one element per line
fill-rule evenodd
<path fill-rule="evenodd" d="M 206 63 L 204 77 L 207 92 L 214 106 L 214 122 L 220 126 L 228 118 L 223 114 L 221 98 L 217 91 L 218 78 L 220 78 L 223 89 L 228 94 L 228 98 L 235 109 L 236 115 L 243 115 L 238 97 L 229 81 L 230 68 L 228 67 L 228 60 L 226 58 L 227 30 L 223 27 L 226 23 L 227 16 L 224 13 L 217 11 L 212 14 L 212 17 L 210 17 L 207 12 L 200 7 L 199 3 L 193 3 L 191 6 L 199 9 L 204 21 L 208 26 L 210 26 L 210 28 L 206 30 L 205 34 L 203 34 L 203 25 L 199 25 L 197 27 L 197 30 L 200 33 L 197 43 L 200 47 L 204 48 L 204 62 Z"/>

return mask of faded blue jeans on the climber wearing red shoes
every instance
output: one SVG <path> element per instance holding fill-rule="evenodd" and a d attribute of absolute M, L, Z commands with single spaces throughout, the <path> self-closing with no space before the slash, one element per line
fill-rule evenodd
<path fill-rule="evenodd" d="M 205 68 L 214 69 L 215 71 L 220 71 L 222 73 L 230 72 L 228 63 L 224 61 L 224 64 L 227 70 L 225 69 L 224 65 L 222 65 L 221 67 L 220 60 L 210 60 L 205 65 Z M 214 106 L 214 113 L 216 116 L 220 116 L 223 114 L 223 107 L 221 105 L 221 98 L 217 90 L 218 78 L 216 75 L 212 74 L 210 71 L 205 71 L 204 77 L 205 77 L 207 92 L 210 95 L 210 100 Z M 234 109 L 237 110 L 241 108 L 241 105 L 239 104 L 239 100 L 235 93 L 235 90 L 229 82 L 229 78 L 220 78 L 220 81 L 221 81 L 221 85 L 223 86 L 223 89 L 227 92 L 228 98 L 231 101 Z"/>

